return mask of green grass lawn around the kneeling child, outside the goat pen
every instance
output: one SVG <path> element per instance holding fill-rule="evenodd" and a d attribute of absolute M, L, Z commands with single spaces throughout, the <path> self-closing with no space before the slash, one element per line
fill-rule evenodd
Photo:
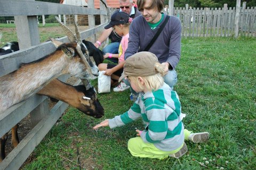
<path fill-rule="evenodd" d="M 127 141 L 141 120 L 110 129 L 92 127 L 130 108 L 129 91 L 98 94 L 105 117 L 69 107 L 23 169 L 254 169 L 256 167 L 256 41 L 253 38 L 182 39 L 178 83 L 185 127 L 210 140 L 186 142 L 179 160 L 132 157 Z M 97 87 L 97 80 L 92 82 Z"/>

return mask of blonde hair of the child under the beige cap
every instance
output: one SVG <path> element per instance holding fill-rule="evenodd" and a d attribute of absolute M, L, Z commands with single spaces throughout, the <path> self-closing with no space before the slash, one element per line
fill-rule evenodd
<path fill-rule="evenodd" d="M 138 87 L 139 91 L 143 91 L 146 87 L 147 90 L 150 91 L 156 91 L 158 88 L 160 88 L 164 84 L 164 78 L 163 76 L 167 74 L 167 72 L 164 71 L 162 64 L 159 62 L 155 63 L 155 70 L 157 73 L 155 75 L 150 76 L 128 76 L 130 80 L 133 80 L 133 82 L 136 82 L 136 86 Z M 141 77 L 143 81 L 145 82 L 145 87 L 139 82 L 138 77 Z"/>

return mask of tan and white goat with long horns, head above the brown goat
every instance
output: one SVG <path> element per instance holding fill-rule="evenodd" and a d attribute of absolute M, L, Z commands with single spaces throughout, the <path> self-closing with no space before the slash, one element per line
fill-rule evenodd
<path fill-rule="evenodd" d="M 59 21 L 58 17 L 56 19 Z M 0 114 L 13 104 L 39 92 L 60 75 L 70 74 L 83 78 L 98 76 L 98 67 L 89 57 L 74 16 L 73 19 L 76 35 L 59 21 L 71 43 L 61 43 L 50 38 L 52 43 L 58 47 L 55 52 L 37 61 L 22 64 L 18 70 L 0 77 Z M 4 150 L 2 147 L 1 145 L 1 150 Z"/>

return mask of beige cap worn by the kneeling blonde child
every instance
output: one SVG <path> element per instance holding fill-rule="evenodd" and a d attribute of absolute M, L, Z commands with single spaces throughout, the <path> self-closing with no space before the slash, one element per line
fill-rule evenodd
<path fill-rule="evenodd" d="M 119 82 L 126 76 L 151 76 L 157 74 L 155 63 L 158 59 L 155 54 L 142 51 L 125 60 L 124 72 Z"/>

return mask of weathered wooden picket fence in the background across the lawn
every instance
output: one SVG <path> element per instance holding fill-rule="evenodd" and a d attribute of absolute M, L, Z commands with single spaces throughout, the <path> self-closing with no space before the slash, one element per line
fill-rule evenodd
<path fill-rule="evenodd" d="M 256 37 L 256 7 L 243 3 L 239 15 L 239 36 Z M 174 15 L 180 18 L 183 37 L 231 37 L 235 35 L 235 7 L 190 8 L 175 7 Z"/>

